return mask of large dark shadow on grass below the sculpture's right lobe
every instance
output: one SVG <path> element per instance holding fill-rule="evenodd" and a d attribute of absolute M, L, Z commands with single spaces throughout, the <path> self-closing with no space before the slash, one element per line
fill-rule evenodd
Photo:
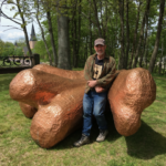
<path fill-rule="evenodd" d="M 155 132 L 145 122 L 136 134 L 126 137 L 127 154 L 136 158 L 151 159 L 166 154 L 166 137 Z"/>

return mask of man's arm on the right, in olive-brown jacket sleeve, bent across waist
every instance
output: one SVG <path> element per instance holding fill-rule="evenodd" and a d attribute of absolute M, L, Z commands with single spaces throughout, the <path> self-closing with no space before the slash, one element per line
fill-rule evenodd
<path fill-rule="evenodd" d="M 110 72 L 102 79 L 96 80 L 96 85 L 104 87 L 107 84 L 110 84 L 115 76 L 115 72 L 116 72 L 116 63 L 115 63 L 115 60 L 113 59 L 112 68 Z"/>

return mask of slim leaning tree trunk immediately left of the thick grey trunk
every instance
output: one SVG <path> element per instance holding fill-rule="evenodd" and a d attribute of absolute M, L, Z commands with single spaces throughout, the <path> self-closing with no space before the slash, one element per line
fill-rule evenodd
<path fill-rule="evenodd" d="M 46 11 L 46 18 L 48 18 L 48 24 L 49 24 L 49 33 L 50 33 L 50 38 L 51 38 L 52 52 L 53 52 L 53 58 L 54 58 L 54 66 L 58 66 L 58 55 L 56 55 L 55 42 L 54 42 L 54 38 L 53 38 L 50 11 Z"/>

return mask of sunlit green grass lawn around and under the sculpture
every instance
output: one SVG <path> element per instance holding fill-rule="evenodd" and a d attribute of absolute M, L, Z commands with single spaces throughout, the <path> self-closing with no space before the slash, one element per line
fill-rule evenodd
<path fill-rule="evenodd" d="M 133 136 L 120 135 L 107 114 L 110 135 L 96 143 L 96 124 L 91 144 L 72 147 L 81 129 L 52 147 L 39 147 L 30 135 L 31 120 L 9 95 L 15 74 L 0 75 L 0 166 L 166 166 L 166 77 L 153 74 L 157 85 L 156 101 L 142 114 L 142 126 Z"/>

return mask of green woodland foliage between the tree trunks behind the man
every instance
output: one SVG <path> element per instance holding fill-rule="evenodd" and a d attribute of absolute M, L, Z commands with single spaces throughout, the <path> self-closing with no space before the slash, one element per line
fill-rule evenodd
<path fill-rule="evenodd" d="M 6 0 L 4 0 L 6 1 Z M 129 52 L 127 61 L 131 61 L 131 55 L 133 52 L 133 42 L 134 42 L 134 34 L 135 34 L 135 27 L 138 13 L 138 6 L 141 3 L 141 12 L 139 12 L 139 20 L 138 20 L 138 29 L 137 29 L 137 37 L 136 37 L 136 46 L 139 41 L 141 28 L 143 22 L 144 12 L 146 9 L 146 1 L 143 0 L 122 0 L 124 1 L 124 52 L 126 55 L 126 48 L 127 48 L 127 38 L 129 39 Z M 58 9 L 61 9 L 62 13 L 69 18 L 69 43 L 70 43 L 70 54 L 71 54 L 71 62 L 72 65 L 75 66 L 83 66 L 86 58 L 94 53 L 93 50 L 93 42 L 96 38 L 100 37 L 100 29 L 102 31 L 102 37 L 106 40 L 107 50 L 106 53 L 113 55 L 117 61 L 120 61 L 121 56 L 121 19 L 120 19 L 120 11 L 121 8 L 118 6 L 118 1 L 115 0 L 60 0 L 55 2 L 54 0 L 19 0 L 21 13 L 18 12 L 17 6 L 14 6 L 15 1 L 8 0 L 8 3 L 13 4 L 11 6 L 11 10 L 15 11 L 14 19 L 18 15 L 24 15 L 25 23 L 21 23 L 21 27 L 25 27 L 28 23 L 32 22 L 32 20 L 37 20 L 39 18 L 40 23 L 42 24 L 44 38 L 46 40 L 46 44 L 51 55 L 53 56 L 51 39 L 49 33 L 49 25 L 48 25 L 48 18 L 46 12 L 51 13 L 52 27 L 53 27 L 53 37 L 55 41 L 55 48 L 58 45 L 58 17 L 60 13 Z M 129 27 L 129 35 L 127 37 L 127 19 L 126 19 L 126 3 L 128 2 L 128 27 Z M 143 39 L 143 45 L 141 46 L 141 53 L 138 56 L 147 56 L 148 61 L 151 60 L 154 43 L 156 39 L 156 31 L 157 31 L 157 23 L 158 23 L 158 14 L 159 14 L 159 0 L 151 1 L 151 8 L 148 13 L 148 34 L 147 39 Z M 95 11 L 95 6 L 97 11 Z M 60 8 L 59 8 L 60 7 Z M 39 10 L 38 10 L 39 9 Z M 97 15 L 97 18 L 96 18 Z M 166 12 L 164 15 L 165 21 Z M 97 24 L 98 20 L 98 24 Z M 166 23 L 165 23 L 166 24 Z M 145 29 L 144 28 L 144 38 L 145 38 Z M 165 27 L 163 28 L 163 43 L 165 44 L 166 35 L 165 35 Z M 48 59 L 48 52 L 45 51 L 45 46 L 43 44 L 42 34 L 40 35 L 40 41 L 34 49 L 34 52 L 41 54 L 43 59 Z M 146 40 L 148 40 L 146 44 Z M 143 49 L 146 45 L 147 53 Z M 159 46 L 162 43 L 159 44 Z M 56 49 L 58 52 L 58 49 Z M 165 55 L 164 49 L 164 55 Z M 135 50 L 134 50 L 135 54 Z M 158 52 L 157 61 L 160 55 Z M 125 56 L 126 58 L 126 56 Z M 75 59 L 77 59 L 77 64 L 74 64 Z"/>

